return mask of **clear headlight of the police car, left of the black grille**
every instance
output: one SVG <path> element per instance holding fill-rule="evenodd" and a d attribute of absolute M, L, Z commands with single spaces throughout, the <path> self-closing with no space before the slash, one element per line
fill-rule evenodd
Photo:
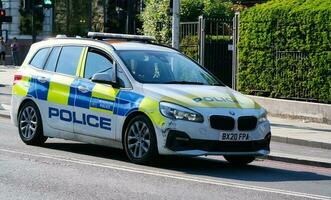
<path fill-rule="evenodd" d="M 160 102 L 160 112 L 163 116 L 170 119 L 180 119 L 192 122 L 203 122 L 201 114 L 168 102 Z"/>

